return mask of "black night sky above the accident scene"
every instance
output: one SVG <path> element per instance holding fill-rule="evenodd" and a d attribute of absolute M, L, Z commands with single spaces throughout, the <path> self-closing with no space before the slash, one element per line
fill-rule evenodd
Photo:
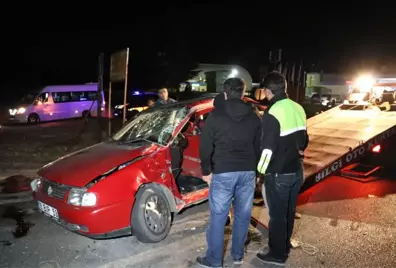
<path fill-rule="evenodd" d="M 43 7 L 39 13 L 25 10 L 29 15 L 20 14 L 8 28 L 3 18 L 1 90 L 95 81 L 99 53 L 108 59 L 127 46 L 130 83 L 137 87 L 161 83 L 155 78 L 162 72 L 158 52 L 179 64 L 240 64 L 253 77 L 267 63 L 270 48 L 282 48 L 284 60 L 303 60 L 307 71 L 353 73 L 383 65 L 389 71 L 396 59 L 392 8 L 167 3 L 131 2 L 107 13 Z"/>

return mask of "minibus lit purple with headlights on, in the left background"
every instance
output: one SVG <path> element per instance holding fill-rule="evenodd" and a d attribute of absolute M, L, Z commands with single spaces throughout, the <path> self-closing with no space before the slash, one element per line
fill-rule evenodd
<path fill-rule="evenodd" d="M 47 86 L 27 93 L 19 105 L 9 110 L 10 121 L 37 124 L 85 116 L 97 116 L 98 84 Z M 102 95 L 104 109 L 104 96 Z"/>

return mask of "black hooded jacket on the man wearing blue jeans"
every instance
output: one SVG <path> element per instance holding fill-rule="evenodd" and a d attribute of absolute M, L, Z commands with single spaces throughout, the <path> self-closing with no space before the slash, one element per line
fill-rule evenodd
<path fill-rule="evenodd" d="M 203 175 L 255 171 L 260 157 L 261 121 L 250 103 L 218 95 L 201 133 Z"/>

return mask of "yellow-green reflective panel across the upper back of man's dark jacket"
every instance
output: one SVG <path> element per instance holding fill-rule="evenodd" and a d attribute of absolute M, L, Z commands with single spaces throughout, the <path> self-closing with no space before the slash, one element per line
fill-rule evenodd
<path fill-rule="evenodd" d="M 290 99 L 276 102 L 268 113 L 278 120 L 282 137 L 307 129 L 307 116 L 304 109 Z"/>

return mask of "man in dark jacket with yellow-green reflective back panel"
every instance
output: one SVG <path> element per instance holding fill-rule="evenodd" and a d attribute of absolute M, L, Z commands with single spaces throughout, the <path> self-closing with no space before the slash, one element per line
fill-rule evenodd
<path fill-rule="evenodd" d="M 261 157 L 257 171 L 264 176 L 270 214 L 268 250 L 257 258 L 285 265 L 296 213 L 297 196 L 304 181 L 303 158 L 308 146 L 304 109 L 288 98 L 287 82 L 279 72 L 269 73 L 261 83 L 269 108 L 262 117 Z"/>

